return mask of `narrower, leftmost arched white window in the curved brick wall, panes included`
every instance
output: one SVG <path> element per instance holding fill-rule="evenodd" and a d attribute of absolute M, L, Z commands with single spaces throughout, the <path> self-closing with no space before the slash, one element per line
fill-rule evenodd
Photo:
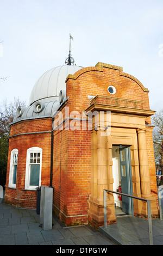
<path fill-rule="evenodd" d="M 17 161 L 18 161 L 18 149 L 13 149 L 11 151 L 10 174 L 9 174 L 9 187 L 13 187 L 13 188 L 16 188 Z"/>

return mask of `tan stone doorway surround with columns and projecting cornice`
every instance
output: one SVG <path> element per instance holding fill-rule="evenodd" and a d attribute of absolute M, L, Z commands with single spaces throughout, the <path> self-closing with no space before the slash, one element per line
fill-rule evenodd
<path fill-rule="evenodd" d="M 97 96 L 98 97 L 98 96 Z M 156 198 L 151 194 L 146 146 L 146 118 L 155 112 L 145 109 L 109 106 L 92 103 L 86 109 L 89 113 L 103 113 L 105 121 L 92 115 L 91 131 L 91 195 L 89 198 L 89 223 L 98 228 L 104 223 L 103 190 L 113 190 L 112 145 L 128 145 L 131 154 L 133 196 L 151 200 L 152 216 L 158 215 Z M 106 115 L 110 114 L 110 127 Z M 104 119 L 102 119 L 104 120 Z M 101 123 L 100 123 L 101 122 Z M 108 129 L 109 132 L 108 132 Z M 134 215 L 147 217 L 147 206 L 140 200 L 133 200 Z M 107 198 L 108 224 L 116 223 L 114 196 Z"/>

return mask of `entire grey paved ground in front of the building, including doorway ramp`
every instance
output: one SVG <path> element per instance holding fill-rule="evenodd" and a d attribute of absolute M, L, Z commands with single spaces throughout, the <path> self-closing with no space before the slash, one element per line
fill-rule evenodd
<path fill-rule="evenodd" d="M 117 217 L 117 224 L 65 227 L 53 216 L 51 230 L 39 227 L 36 210 L 15 208 L 0 198 L 0 245 L 108 246 L 149 245 L 148 221 L 134 216 Z M 152 220 L 153 245 L 163 245 L 163 221 Z"/>

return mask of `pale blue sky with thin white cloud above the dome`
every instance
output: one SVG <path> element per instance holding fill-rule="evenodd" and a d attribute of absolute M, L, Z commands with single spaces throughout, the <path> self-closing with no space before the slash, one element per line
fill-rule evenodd
<path fill-rule="evenodd" d="M 70 33 L 76 65 L 122 66 L 163 109 L 162 0 L 0 0 L 0 106 L 29 104 L 37 79 L 65 64 Z"/>

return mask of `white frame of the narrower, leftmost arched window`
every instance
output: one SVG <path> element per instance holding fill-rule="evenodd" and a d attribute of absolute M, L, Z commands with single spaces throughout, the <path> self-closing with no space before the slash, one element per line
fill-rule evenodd
<path fill-rule="evenodd" d="M 15 158 L 16 155 L 16 158 Z M 10 158 L 10 174 L 9 174 L 9 187 L 16 188 L 16 184 L 13 183 L 13 175 L 14 175 L 14 166 L 17 166 L 18 162 L 18 149 L 11 150 L 11 158 Z M 17 178 L 17 170 L 16 170 L 16 178 Z"/>

